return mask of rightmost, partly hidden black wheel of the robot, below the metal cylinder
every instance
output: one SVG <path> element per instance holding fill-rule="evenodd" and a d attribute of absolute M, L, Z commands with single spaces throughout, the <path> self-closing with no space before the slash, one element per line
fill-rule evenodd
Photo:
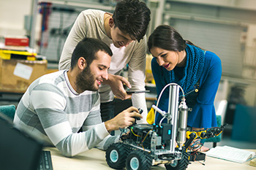
<path fill-rule="evenodd" d="M 174 163 L 165 164 L 167 170 L 185 170 L 189 165 L 189 154 L 182 150 L 181 159 L 174 161 Z"/>

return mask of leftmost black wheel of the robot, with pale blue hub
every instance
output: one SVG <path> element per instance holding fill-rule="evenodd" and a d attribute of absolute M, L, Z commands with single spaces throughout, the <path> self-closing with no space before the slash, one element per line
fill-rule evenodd
<path fill-rule="evenodd" d="M 111 144 L 106 150 L 106 161 L 113 169 L 123 169 L 129 149 L 123 143 Z"/>

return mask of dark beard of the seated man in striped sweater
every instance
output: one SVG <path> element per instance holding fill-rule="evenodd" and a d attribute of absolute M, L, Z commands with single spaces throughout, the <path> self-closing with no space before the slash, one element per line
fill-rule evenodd
<path fill-rule="evenodd" d="M 86 69 L 83 69 L 83 72 L 78 74 L 76 78 L 76 88 L 78 88 L 78 93 L 83 93 L 85 90 L 96 91 L 98 88 L 94 86 L 95 79 L 94 75 L 91 74 L 91 69 L 89 66 L 86 66 Z"/>

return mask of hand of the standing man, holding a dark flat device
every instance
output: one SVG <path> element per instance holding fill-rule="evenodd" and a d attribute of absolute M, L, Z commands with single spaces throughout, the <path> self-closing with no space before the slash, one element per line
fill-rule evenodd
<path fill-rule="evenodd" d="M 108 74 L 108 80 L 105 80 L 104 83 L 109 85 L 113 91 L 113 94 L 121 100 L 125 100 L 132 96 L 132 94 L 127 94 L 127 92 L 124 90 L 124 85 L 126 85 L 128 88 L 132 88 L 129 81 L 124 77 Z"/>

